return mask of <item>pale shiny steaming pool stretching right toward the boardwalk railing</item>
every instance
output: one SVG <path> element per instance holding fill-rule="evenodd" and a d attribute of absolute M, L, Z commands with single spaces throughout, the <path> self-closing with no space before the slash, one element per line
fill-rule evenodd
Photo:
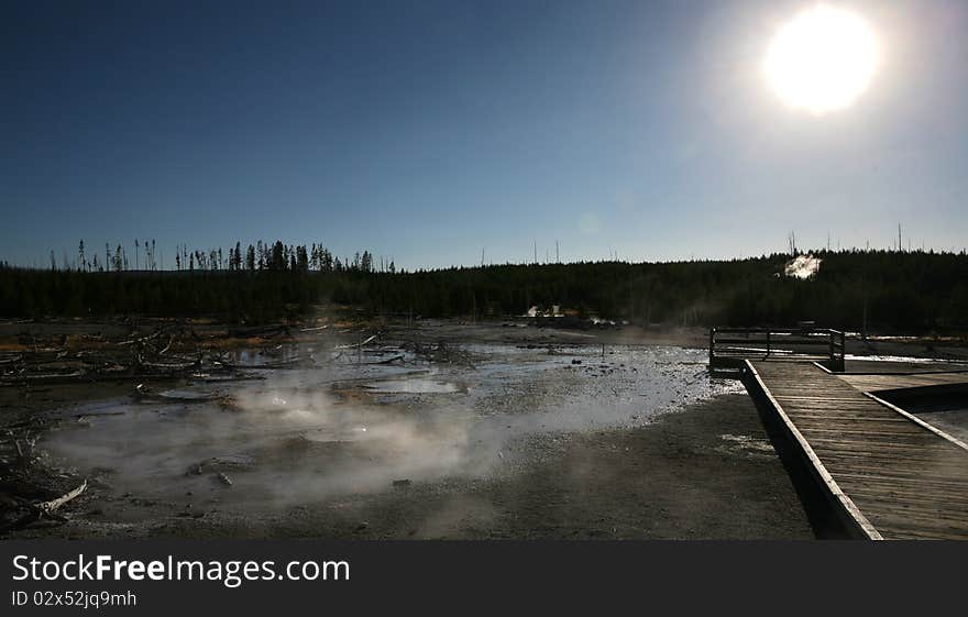
<path fill-rule="evenodd" d="M 645 423 L 725 387 L 704 375 L 698 350 L 598 357 L 597 348 L 484 348 L 491 359 L 475 368 L 430 374 L 268 372 L 263 382 L 220 386 L 229 406 L 100 404 L 98 411 L 122 414 L 92 411 L 45 445 L 118 494 L 256 511 L 393 491 L 394 481 L 490 477 L 526 458 L 521 443 L 534 436 Z M 194 389 L 206 387 L 217 386 Z"/>

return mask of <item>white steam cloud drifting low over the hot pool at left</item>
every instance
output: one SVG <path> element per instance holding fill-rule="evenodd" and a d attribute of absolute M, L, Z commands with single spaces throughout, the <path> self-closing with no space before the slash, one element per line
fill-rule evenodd
<path fill-rule="evenodd" d="M 477 454 L 471 452 L 466 414 L 408 414 L 340 400 L 294 379 L 282 375 L 238 388 L 228 409 L 122 403 L 122 416 L 88 417 L 85 428 L 55 432 L 46 444 L 62 460 L 90 464 L 79 471 L 101 472 L 122 492 L 154 498 L 218 492 L 229 500 L 242 494 L 242 500 L 270 506 L 386 489 L 394 480 L 486 471 L 490 461 L 480 453 L 494 448 L 479 444 Z M 210 474 L 191 472 L 209 460 L 209 467 L 231 477 L 231 494 Z"/>

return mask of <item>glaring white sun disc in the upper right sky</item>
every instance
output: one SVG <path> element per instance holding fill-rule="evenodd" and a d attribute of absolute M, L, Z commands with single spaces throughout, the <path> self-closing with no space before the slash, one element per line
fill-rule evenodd
<path fill-rule="evenodd" d="M 877 41 L 867 22 L 817 4 L 777 32 L 763 71 L 785 103 L 823 114 L 850 107 L 867 90 L 877 64 Z"/>

